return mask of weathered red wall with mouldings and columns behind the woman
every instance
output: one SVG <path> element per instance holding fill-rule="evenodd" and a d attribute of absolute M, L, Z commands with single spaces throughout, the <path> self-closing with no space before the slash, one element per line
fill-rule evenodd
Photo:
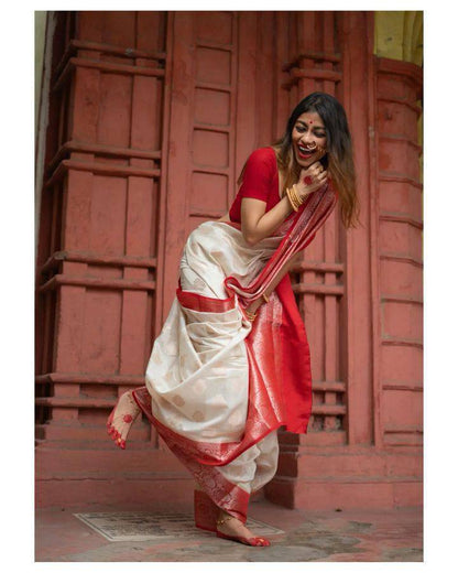
<path fill-rule="evenodd" d="M 373 55 L 381 34 L 369 12 L 53 18 L 39 504 L 189 497 L 190 478 L 150 424 L 137 423 L 118 452 L 105 421 L 119 393 L 143 382 L 186 235 L 225 213 L 250 151 L 281 136 L 316 89 L 347 109 L 362 225 L 347 233 L 336 212 L 295 270 L 313 418 L 306 436 L 281 433 L 265 493 L 290 507 L 419 502 L 421 68 Z"/>

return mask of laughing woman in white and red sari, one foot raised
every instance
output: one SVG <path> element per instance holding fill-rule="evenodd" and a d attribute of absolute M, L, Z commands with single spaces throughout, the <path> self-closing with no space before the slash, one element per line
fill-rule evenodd
<path fill-rule="evenodd" d="M 277 428 L 305 433 L 312 410 L 288 270 L 337 197 L 344 224 L 357 220 L 344 108 L 327 94 L 304 98 L 284 137 L 250 155 L 239 183 L 230 212 L 190 234 L 146 386 L 120 398 L 108 431 L 126 447 L 143 411 L 194 475 L 196 526 L 269 545 L 244 526 L 249 497 L 275 474 Z"/>

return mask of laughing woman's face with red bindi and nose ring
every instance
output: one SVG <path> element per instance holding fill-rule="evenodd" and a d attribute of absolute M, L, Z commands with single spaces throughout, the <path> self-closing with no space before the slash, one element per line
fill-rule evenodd
<path fill-rule="evenodd" d="M 326 154 L 326 130 L 316 111 L 299 116 L 292 132 L 294 156 L 306 169 Z"/>

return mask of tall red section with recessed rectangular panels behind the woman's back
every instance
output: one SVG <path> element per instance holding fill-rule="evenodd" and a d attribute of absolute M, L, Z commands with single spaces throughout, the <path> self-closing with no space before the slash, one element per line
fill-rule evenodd
<path fill-rule="evenodd" d="M 237 22 L 233 12 L 174 15 L 163 320 L 187 235 L 235 196 Z"/>

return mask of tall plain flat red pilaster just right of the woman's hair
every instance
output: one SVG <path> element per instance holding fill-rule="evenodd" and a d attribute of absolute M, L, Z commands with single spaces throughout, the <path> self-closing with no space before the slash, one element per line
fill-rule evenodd
<path fill-rule="evenodd" d="M 361 225 L 346 234 L 346 310 L 348 361 L 348 432 L 350 444 L 373 442 L 373 389 L 372 389 L 372 321 L 370 269 L 370 171 L 369 147 L 369 90 L 364 62 L 370 45 L 366 35 L 369 13 L 346 12 L 339 14 L 341 51 L 345 54 L 342 73 L 348 90 L 344 90 L 353 150 L 357 158 L 358 194 L 361 202 Z M 350 89 L 351 87 L 351 89 Z M 348 99 L 347 99 L 348 97 Z M 358 412 L 358 415 L 352 415 Z"/>

